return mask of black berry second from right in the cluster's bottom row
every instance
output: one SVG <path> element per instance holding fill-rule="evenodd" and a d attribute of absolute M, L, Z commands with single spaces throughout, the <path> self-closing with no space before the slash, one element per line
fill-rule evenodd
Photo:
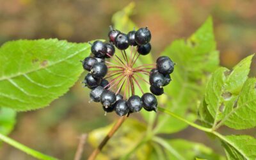
<path fill-rule="evenodd" d="M 143 107 L 143 102 L 138 95 L 132 95 L 128 100 L 127 104 L 131 112 L 138 112 Z"/>

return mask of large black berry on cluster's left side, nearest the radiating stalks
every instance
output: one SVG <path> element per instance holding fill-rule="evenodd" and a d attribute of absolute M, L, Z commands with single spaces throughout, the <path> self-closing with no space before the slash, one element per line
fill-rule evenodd
<path fill-rule="evenodd" d="M 92 66 L 91 74 L 95 78 L 102 78 L 108 73 L 108 67 L 105 63 L 95 63 Z"/>

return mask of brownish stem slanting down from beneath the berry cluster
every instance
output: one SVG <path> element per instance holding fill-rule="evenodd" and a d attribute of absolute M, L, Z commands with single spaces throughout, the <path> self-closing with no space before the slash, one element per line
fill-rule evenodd
<path fill-rule="evenodd" d="M 124 120 L 127 118 L 127 116 L 122 116 L 116 124 L 112 127 L 112 129 L 109 131 L 107 136 L 104 138 L 104 140 L 101 141 L 100 145 L 93 150 L 92 154 L 90 157 L 88 157 L 88 160 L 94 160 L 97 155 L 99 154 L 100 150 L 108 143 L 108 140 L 115 134 L 115 132 L 120 128 L 120 126 L 123 124 Z"/>

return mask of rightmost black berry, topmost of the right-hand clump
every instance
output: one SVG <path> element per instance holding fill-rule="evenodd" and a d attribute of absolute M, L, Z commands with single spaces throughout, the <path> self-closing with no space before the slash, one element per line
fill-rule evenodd
<path fill-rule="evenodd" d="M 174 63 L 170 58 L 164 58 L 157 61 L 156 67 L 161 74 L 171 74 L 174 69 Z"/>

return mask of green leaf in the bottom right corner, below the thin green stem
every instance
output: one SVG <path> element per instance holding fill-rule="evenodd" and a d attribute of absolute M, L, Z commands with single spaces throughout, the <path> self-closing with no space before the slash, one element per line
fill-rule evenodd
<path fill-rule="evenodd" d="M 222 144 L 228 159 L 256 159 L 256 139 L 252 136 L 225 136 Z"/>

